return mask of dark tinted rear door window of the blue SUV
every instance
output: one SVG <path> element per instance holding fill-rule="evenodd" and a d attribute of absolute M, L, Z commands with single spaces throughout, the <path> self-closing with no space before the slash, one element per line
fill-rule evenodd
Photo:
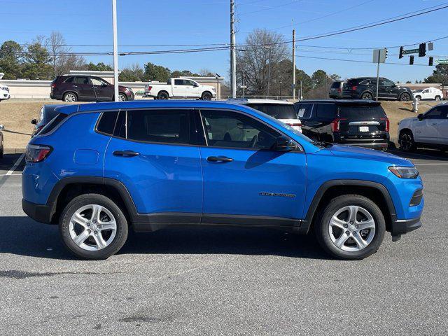
<path fill-rule="evenodd" d="M 126 114 L 127 139 L 168 144 L 190 143 L 187 110 L 131 110 Z"/>

